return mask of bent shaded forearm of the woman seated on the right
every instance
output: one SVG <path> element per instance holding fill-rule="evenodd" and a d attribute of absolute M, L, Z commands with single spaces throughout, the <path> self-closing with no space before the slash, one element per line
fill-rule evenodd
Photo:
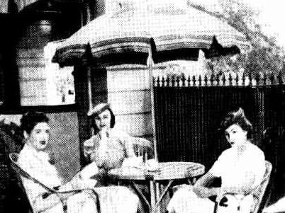
<path fill-rule="evenodd" d="M 203 175 L 194 185 L 193 191 L 198 197 L 211 197 L 220 194 L 220 188 L 208 188 L 208 185 L 217 178 L 212 173 L 208 172 Z"/>

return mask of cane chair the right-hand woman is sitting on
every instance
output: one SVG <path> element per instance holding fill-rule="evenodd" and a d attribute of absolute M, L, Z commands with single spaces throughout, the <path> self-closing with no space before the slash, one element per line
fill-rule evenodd
<path fill-rule="evenodd" d="M 254 203 L 254 206 L 253 206 L 252 211 L 250 213 L 261 212 L 269 200 L 268 199 L 269 197 L 264 196 L 264 194 L 267 190 L 267 185 L 269 183 L 270 175 L 272 172 L 272 163 L 270 163 L 269 161 L 265 161 L 265 168 L 266 168 L 266 170 L 265 170 L 262 182 L 260 183 L 259 187 L 252 192 L 255 203 Z M 233 194 L 233 193 L 226 192 L 223 195 L 223 197 L 225 197 L 226 195 L 235 196 L 235 194 Z M 238 199 L 237 197 L 235 197 L 235 198 Z M 240 197 L 240 200 L 242 200 L 242 199 L 243 199 L 243 196 Z M 223 198 L 222 198 L 222 200 L 223 200 Z M 238 207 L 238 209 L 240 209 L 240 207 Z M 218 213 L 218 203 L 217 202 L 216 202 L 216 207 L 214 209 L 214 213 Z"/>

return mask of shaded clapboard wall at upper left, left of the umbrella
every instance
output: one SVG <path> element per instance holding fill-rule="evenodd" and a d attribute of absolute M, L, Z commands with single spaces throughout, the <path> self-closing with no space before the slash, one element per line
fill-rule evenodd
<path fill-rule="evenodd" d="M 52 21 L 35 20 L 23 23 L 16 46 L 21 105 L 47 104 L 47 73 L 44 47 L 52 39 Z"/>

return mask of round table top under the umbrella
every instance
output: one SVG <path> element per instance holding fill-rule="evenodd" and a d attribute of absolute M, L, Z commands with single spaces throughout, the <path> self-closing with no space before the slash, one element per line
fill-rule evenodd
<path fill-rule="evenodd" d="M 194 162 L 159 163 L 157 171 L 147 171 L 145 167 L 113 168 L 108 171 L 111 178 L 117 180 L 179 180 L 203 175 L 205 166 Z"/>

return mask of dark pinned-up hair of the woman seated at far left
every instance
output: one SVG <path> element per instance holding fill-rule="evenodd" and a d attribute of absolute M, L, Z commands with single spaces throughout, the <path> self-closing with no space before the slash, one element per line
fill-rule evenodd
<path fill-rule="evenodd" d="M 45 113 L 29 111 L 28 113 L 23 114 L 21 118 L 21 127 L 23 131 L 26 131 L 28 134 L 32 132 L 35 125 L 39 122 L 48 122 L 49 119 Z"/>

